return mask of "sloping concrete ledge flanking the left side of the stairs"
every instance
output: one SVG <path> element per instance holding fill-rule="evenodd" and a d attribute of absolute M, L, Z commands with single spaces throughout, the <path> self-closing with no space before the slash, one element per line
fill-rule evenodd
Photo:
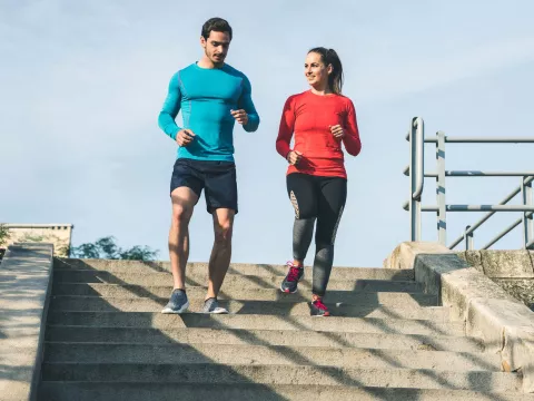
<path fill-rule="evenodd" d="M 0 400 L 34 400 L 53 246 L 19 243 L 0 265 Z"/>

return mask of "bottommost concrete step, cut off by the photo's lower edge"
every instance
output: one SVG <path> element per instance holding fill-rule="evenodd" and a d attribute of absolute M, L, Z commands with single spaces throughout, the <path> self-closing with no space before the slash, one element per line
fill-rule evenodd
<path fill-rule="evenodd" d="M 532 401 L 533 394 L 483 393 L 468 390 L 399 389 L 298 384 L 178 384 L 111 382 L 43 382 L 41 400 L 55 401 Z"/>

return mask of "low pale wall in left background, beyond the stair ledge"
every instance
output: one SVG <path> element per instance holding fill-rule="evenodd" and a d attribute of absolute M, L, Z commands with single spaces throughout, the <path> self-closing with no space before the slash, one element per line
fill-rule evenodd
<path fill-rule="evenodd" d="M 2 247 L 16 243 L 53 244 L 55 256 L 68 257 L 72 224 L 4 224 L 9 228 L 9 239 Z"/>

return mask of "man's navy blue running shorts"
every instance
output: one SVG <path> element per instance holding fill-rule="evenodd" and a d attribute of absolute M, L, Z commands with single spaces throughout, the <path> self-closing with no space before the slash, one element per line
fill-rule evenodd
<path fill-rule="evenodd" d="M 205 190 L 208 213 L 229 208 L 237 214 L 237 178 L 234 162 L 179 158 L 170 178 L 170 193 L 178 187 L 191 188 L 200 197 Z"/>

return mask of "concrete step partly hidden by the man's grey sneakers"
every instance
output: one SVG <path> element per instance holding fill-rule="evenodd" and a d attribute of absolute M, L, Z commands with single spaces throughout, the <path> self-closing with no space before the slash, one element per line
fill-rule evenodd
<path fill-rule="evenodd" d="M 376 299 L 362 297 L 362 302 L 353 301 L 352 303 L 330 303 L 325 302 L 329 307 L 333 315 L 336 316 L 368 316 L 375 312 L 375 309 L 384 306 L 378 310 L 375 316 L 382 315 L 385 317 L 419 317 L 425 316 L 429 319 L 438 319 L 441 321 L 447 319 L 447 309 L 434 306 L 429 309 L 429 312 L 424 312 L 424 307 L 421 307 L 416 301 L 404 300 L 402 307 L 393 307 L 394 300 L 386 299 L 384 303 Z M 100 296 L 70 296 L 61 295 L 53 296 L 50 302 L 51 311 L 92 311 L 92 312 L 160 312 L 167 304 L 168 299 L 149 299 L 149 297 L 100 297 Z M 189 297 L 189 311 L 201 312 L 204 306 L 202 297 Z M 308 302 L 279 302 L 279 301 L 234 301 L 221 300 L 220 306 L 228 309 L 230 313 L 240 314 L 274 314 L 280 316 L 287 315 L 309 315 L 310 304 Z M 436 311 L 433 314 L 433 311 Z M 445 311 L 445 312 L 444 312 Z M 390 315 L 388 314 L 390 312 Z"/>

